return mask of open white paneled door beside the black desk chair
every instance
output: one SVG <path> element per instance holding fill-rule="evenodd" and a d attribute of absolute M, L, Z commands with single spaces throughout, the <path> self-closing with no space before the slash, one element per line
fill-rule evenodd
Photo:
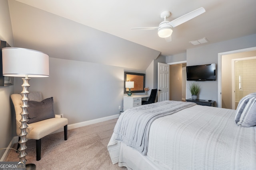
<path fill-rule="evenodd" d="M 158 102 L 169 100 L 169 64 L 158 63 Z"/>

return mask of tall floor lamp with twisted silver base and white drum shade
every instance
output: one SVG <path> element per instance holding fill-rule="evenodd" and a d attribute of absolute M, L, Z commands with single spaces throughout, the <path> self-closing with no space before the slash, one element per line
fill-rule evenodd
<path fill-rule="evenodd" d="M 26 138 L 27 133 L 27 115 L 28 115 L 28 84 L 30 78 L 28 77 L 48 77 L 49 76 L 49 56 L 40 51 L 31 49 L 23 49 L 16 47 L 6 47 L 2 49 L 2 61 L 3 61 L 3 75 L 24 77 L 22 78 L 22 112 L 21 126 L 20 126 L 20 162 L 26 164 Z M 26 169 L 36 169 L 35 164 L 26 164 Z"/>

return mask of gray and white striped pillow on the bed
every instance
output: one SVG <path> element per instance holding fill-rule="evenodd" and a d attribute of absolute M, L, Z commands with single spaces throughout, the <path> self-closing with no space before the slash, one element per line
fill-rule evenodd
<path fill-rule="evenodd" d="M 256 125 L 256 93 L 248 94 L 238 103 L 235 122 L 241 127 Z"/>

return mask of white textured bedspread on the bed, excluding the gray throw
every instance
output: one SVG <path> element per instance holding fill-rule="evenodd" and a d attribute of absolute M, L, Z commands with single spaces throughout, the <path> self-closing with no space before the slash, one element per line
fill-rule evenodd
<path fill-rule="evenodd" d="M 146 156 L 112 136 L 112 163 L 133 170 L 255 170 L 256 127 L 238 127 L 234 117 L 235 110 L 208 106 L 160 117 L 150 127 Z"/>

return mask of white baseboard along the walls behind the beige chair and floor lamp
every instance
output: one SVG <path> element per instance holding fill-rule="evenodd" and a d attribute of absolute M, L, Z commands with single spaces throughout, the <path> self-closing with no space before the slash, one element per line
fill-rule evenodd
<path fill-rule="evenodd" d="M 100 122 L 103 122 L 103 121 L 108 121 L 108 120 L 111 120 L 111 119 L 117 119 L 118 117 L 119 117 L 119 114 L 116 114 L 116 115 L 112 115 L 112 116 L 107 116 L 107 117 L 102 117 L 102 118 L 98 118 L 98 119 L 93 119 L 93 120 L 88 120 L 88 121 L 83 121 L 83 122 L 79 122 L 79 123 L 70 124 L 70 125 L 68 125 L 68 130 L 75 129 L 75 128 L 78 128 L 78 127 L 87 126 L 87 125 L 92 125 L 94 123 L 100 123 Z M 54 131 L 51 134 L 62 132 L 62 131 L 64 131 L 64 129 L 60 128 L 60 129 L 58 129 L 57 131 Z M 14 145 L 14 143 L 18 142 L 18 140 L 19 140 L 18 136 L 13 137 L 12 141 L 8 145 L 8 148 L 11 148 L 12 145 Z M 6 149 L 6 151 L 4 152 L 4 155 L 0 159 L 0 162 L 4 162 L 6 160 L 9 152 L 10 152 L 10 149 Z"/>

